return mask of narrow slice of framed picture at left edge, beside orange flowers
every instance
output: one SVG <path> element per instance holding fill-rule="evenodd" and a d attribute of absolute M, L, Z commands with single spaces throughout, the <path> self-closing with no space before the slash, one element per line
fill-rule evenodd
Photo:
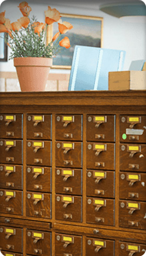
<path fill-rule="evenodd" d="M 1 33 L 0 37 L 0 61 L 8 61 L 8 46 L 5 44 L 4 38 L 7 35 L 5 33 Z"/>

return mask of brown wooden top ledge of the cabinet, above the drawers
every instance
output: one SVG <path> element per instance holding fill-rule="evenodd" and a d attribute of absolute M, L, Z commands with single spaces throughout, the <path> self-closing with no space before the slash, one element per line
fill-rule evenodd
<path fill-rule="evenodd" d="M 0 105 L 146 105 L 146 91 L 1 92 Z"/>

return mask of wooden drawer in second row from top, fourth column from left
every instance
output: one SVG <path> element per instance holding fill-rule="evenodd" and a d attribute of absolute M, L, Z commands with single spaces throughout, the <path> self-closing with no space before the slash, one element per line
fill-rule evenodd
<path fill-rule="evenodd" d="M 115 145 L 113 143 L 87 143 L 88 169 L 115 169 Z"/>

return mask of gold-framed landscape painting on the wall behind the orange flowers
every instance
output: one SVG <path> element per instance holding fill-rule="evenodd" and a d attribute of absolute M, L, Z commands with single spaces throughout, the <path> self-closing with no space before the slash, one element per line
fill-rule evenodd
<path fill-rule="evenodd" d="M 53 58 L 52 68 L 70 69 L 72 57 L 76 45 L 103 47 L 103 18 L 93 16 L 61 14 L 63 22 L 69 22 L 73 28 L 60 37 L 62 40 L 65 36 L 69 37 L 70 48 L 61 48 L 60 52 Z M 58 32 L 58 24 L 54 23 L 48 26 L 47 42 Z"/>

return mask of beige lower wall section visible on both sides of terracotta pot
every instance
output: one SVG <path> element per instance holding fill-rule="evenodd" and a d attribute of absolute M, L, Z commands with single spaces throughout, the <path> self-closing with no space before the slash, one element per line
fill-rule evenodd
<path fill-rule="evenodd" d="M 69 74 L 50 73 L 45 91 L 67 91 Z M 0 72 L 0 92 L 20 91 L 16 72 Z"/>

